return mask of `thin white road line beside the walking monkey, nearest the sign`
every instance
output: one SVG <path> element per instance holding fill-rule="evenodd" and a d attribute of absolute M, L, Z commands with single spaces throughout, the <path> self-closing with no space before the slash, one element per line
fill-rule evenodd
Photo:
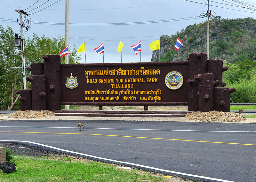
<path fill-rule="evenodd" d="M 78 127 L 48 127 L 48 126 L 0 126 L 10 128 L 78 128 Z M 233 133 L 255 133 L 256 131 L 208 131 L 208 130 L 169 130 L 169 129 L 132 129 L 132 128 L 88 128 L 99 130 L 146 130 L 146 131 L 177 131 L 177 132 L 233 132 Z"/>

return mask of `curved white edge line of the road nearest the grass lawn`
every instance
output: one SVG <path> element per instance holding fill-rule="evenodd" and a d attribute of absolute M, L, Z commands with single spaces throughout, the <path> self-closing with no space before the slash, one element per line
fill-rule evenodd
<path fill-rule="evenodd" d="M 128 164 L 128 165 L 132 165 L 132 166 L 152 169 L 152 170 L 156 170 L 156 171 L 169 172 L 169 173 L 173 173 L 173 174 L 180 174 L 180 175 L 195 177 L 195 178 L 210 179 L 210 180 L 221 181 L 221 182 L 235 182 L 235 181 L 228 181 L 228 180 L 225 180 L 225 179 L 210 178 L 210 177 L 206 177 L 206 176 L 198 176 L 198 175 L 194 175 L 194 174 L 187 174 L 187 173 L 183 173 L 183 172 L 169 171 L 169 170 L 164 170 L 164 169 L 160 169 L 160 168 L 155 168 L 155 167 L 150 167 L 150 166 L 145 166 L 145 165 L 140 165 L 140 164 L 135 164 L 135 163 L 128 163 L 128 162 L 123 162 L 123 161 L 107 159 L 107 158 L 103 158 L 103 157 L 97 157 L 97 156 L 94 156 L 94 155 L 88 155 L 88 154 L 83 154 L 83 153 L 74 152 L 74 151 L 70 151 L 70 150 L 65 150 L 65 149 L 61 149 L 61 148 L 56 148 L 56 147 L 52 147 L 52 146 L 49 146 L 49 145 L 44 145 L 44 144 L 36 143 L 36 142 L 32 142 L 32 141 L 20 141 L 20 140 L 0 140 L 0 141 L 31 143 L 31 144 L 35 144 L 35 145 L 40 145 L 40 146 L 52 148 L 52 149 L 55 149 L 55 150 L 60 150 L 60 151 L 63 151 L 63 152 L 68 152 L 68 153 L 73 153 L 73 154 L 78 154 L 78 155 L 84 155 L 84 156 L 87 156 L 87 157 L 92 157 L 92 158 L 95 158 L 95 159 L 101 159 L 101 160 L 110 161 L 110 162 L 114 162 L 114 163 Z"/>

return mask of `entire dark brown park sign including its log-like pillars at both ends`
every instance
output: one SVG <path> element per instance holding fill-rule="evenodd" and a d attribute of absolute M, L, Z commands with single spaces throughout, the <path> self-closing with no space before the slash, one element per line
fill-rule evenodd
<path fill-rule="evenodd" d="M 188 105 L 190 111 L 230 111 L 222 60 L 191 53 L 188 61 L 60 64 L 59 55 L 27 69 L 31 90 L 18 90 L 21 110 L 60 110 L 61 105 Z M 145 109 L 145 107 L 144 107 Z M 147 109 L 147 108 L 146 108 Z M 146 110 L 145 109 L 145 110 Z"/>

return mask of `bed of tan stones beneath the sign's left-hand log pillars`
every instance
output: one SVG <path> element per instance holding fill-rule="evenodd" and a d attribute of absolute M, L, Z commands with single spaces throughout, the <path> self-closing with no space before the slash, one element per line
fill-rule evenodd
<path fill-rule="evenodd" d="M 54 112 L 49 110 L 25 110 L 13 112 L 8 118 L 45 118 L 52 116 Z"/>

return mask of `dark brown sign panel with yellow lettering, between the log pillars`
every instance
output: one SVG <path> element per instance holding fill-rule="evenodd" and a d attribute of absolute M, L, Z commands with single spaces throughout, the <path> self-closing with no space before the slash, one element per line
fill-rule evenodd
<path fill-rule="evenodd" d="M 188 104 L 188 61 L 60 67 L 62 105 Z"/>

